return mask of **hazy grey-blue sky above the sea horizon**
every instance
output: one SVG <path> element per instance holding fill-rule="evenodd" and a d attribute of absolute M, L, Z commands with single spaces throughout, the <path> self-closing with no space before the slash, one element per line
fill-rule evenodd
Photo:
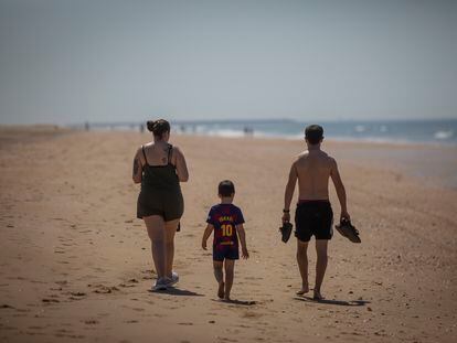
<path fill-rule="evenodd" d="M 457 118 L 457 1 L 0 0 L 0 124 Z"/>

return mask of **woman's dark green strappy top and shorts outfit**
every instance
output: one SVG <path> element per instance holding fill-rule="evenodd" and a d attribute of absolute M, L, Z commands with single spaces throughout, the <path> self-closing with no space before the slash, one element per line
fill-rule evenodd
<path fill-rule="evenodd" d="M 181 218 L 184 212 L 184 200 L 177 175 L 171 164 L 173 146 L 168 144 L 168 164 L 150 165 L 141 147 L 146 164 L 142 169 L 141 192 L 138 195 L 137 217 L 160 215 L 166 222 Z"/>

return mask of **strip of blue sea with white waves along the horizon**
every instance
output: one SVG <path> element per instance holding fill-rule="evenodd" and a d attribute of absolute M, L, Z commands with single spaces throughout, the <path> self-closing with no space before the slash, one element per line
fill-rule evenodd
<path fill-rule="evenodd" d="M 329 140 L 438 143 L 457 146 L 457 119 L 437 120 L 187 120 L 171 121 L 174 132 L 221 137 L 261 137 L 302 139 L 304 128 L 319 124 Z M 139 129 L 140 124 L 91 124 L 93 128 Z"/>

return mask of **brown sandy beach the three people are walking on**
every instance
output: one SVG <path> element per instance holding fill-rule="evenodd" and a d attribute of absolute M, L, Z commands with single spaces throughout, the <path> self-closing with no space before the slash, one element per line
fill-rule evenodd
<path fill-rule="evenodd" d="M 149 140 L 0 129 L 1 342 L 457 341 L 457 148 L 325 142 L 362 244 L 334 233 L 327 300 L 315 302 L 295 296 L 296 242 L 278 234 L 298 140 L 172 136 L 190 171 L 176 240 L 181 280 L 150 292 L 150 243 L 131 181 L 132 156 Z M 235 266 L 234 303 L 216 300 L 212 257 L 200 247 L 223 179 L 236 185 L 251 251 Z"/>

